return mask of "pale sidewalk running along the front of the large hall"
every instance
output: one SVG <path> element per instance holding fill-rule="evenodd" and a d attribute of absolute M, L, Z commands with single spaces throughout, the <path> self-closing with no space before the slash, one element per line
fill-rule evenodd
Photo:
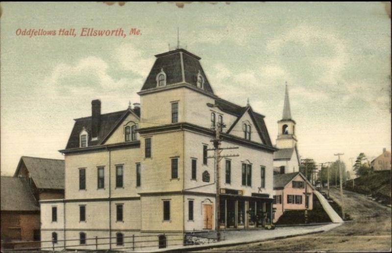
<path fill-rule="evenodd" d="M 294 237 L 298 235 L 326 232 L 336 227 L 339 227 L 343 223 L 331 223 L 327 225 L 316 225 L 316 226 L 303 226 L 303 227 L 281 227 L 275 228 L 275 230 L 248 230 L 248 231 L 225 231 L 221 232 L 224 240 L 216 243 L 193 245 L 193 246 L 182 246 L 182 247 L 168 247 L 166 249 L 154 249 L 148 252 L 189 252 L 189 251 L 200 251 L 209 248 L 219 248 L 226 246 L 234 246 L 253 242 L 262 242 L 269 240 L 277 240 L 283 238 Z M 146 251 L 147 252 L 147 251 Z"/>

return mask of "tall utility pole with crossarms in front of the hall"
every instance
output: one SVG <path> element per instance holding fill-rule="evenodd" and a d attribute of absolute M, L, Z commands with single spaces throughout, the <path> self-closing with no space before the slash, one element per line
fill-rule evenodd
<path fill-rule="evenodd" d="M 217 196 L 215 200 L 215 207 L 216 207 L 216 215 L 215 215 L 215 229 L 217 231 L 217 239 L 218 241 L 221 240 L 221 210 L 220 210 L 220 162 L 221 159 L 224 157 L 233 157 L 233 156 L 240 156 L 239 154 L 230 154 L 230 155 L 221 155 L 221 151 L 223 149 L 237 149 L 238 147 L 228 147 L 228 148 L 220 148 L 221 146 L 221 131 L 225 125 L 221 122 L 218 122 L 217 127 L 214 127 L 215 130 L 215 138 L 211 140 L 214 145 L 214 148 L 207 149 L 207 150 L 214 150 L 214 156 L 209 156 L 207 158 L 215 158 L 215 181 L 217 187 Z"/>

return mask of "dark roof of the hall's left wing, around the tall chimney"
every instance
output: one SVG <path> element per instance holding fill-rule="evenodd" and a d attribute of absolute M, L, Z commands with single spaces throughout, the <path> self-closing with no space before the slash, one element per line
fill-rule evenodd
<path fill-rule="evenodd" d="M 122 119 L 126 117 L 130 112 L 133 112 L 135 115 L 140 117 L 140 109 L 126 109 L 123 111 L 116 111 L 106 114 L 101 114 L 100 117 L 100 126 L 98 130 L 98 140 L 92 141 L 91 134 L 89 134 L 88 146 L 100 145 L 102 141 L 105 140 L 112 130 L 121 123 Z M 91 133 L 91 116 L 75 119 L 75 124 L 73 125 L 73 129 L 68 139 L 68 143 L 66 149 L 69 148 L 79 148 L 79 134 L 82 131 L 83 127 L 86 128 L 87 132 Z"/>

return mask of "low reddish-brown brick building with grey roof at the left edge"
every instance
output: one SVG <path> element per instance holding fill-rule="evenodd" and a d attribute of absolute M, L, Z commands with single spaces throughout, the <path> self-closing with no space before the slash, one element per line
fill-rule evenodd
<path fill-rule="evenodd" d="M 1 177 L 1 241 L 40 236 L 40 208 L 25 178 Z"/>

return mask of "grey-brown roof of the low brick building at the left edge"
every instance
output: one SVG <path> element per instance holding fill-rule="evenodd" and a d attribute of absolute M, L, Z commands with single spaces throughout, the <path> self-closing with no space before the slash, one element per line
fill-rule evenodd
<path fill-rule="evenodd" d="M 25 178 L 0 177 L 1 211 L 39 211 Z"/>

